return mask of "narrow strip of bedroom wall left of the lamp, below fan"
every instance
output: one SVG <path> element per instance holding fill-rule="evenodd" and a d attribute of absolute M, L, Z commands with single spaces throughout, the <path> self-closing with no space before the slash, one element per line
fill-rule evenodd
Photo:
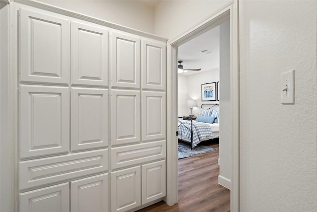
<path fill-rule="evenodd" d="M 178 75 L 178 116 L 188 116 L 187 109 L 187 76 Z"/>

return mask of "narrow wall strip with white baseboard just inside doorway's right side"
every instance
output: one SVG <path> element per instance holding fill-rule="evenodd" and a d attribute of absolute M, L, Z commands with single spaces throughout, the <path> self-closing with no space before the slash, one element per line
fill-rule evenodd
<path fill-rule="evenodd" d="M 220 24 L 220 60 L 219 60 L 219 178 L 218 182 L 231 188 L 231 81 L 230 81 L 230 21 L 229 18 Z"/>

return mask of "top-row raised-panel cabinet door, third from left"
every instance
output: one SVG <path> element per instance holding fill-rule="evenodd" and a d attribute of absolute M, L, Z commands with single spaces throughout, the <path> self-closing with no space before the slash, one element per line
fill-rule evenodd
<path fill-rule="evenodd" d="M 111 86 L 140 88 L 141 41 L 137 37 L 111 33 Z"/>

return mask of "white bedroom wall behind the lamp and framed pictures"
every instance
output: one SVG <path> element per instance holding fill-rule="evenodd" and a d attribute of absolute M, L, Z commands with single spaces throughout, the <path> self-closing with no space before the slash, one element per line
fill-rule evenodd
<path fill-rule="evenodd" d="M 197 107 L 193 108 L 193 113 L 196 116 L 198 116 L 202 104 L 218 103 L 218 101 L 202 102 L 202 84 L 216 81 L 219 81 L 219 69 L 203 71 L 187 76 L 187 98 L 197 100 Z M 187 104 L 186 111 L 188 114 L 190 113 L 190 108 L 187 107 Z"/>

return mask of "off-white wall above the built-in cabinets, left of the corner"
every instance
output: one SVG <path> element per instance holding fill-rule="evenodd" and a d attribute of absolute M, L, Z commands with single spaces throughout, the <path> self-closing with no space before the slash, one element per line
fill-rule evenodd
<path fill-rule="evenodd" d="M 39 0 L 82 14 L 154 33 L 154 8 L 137 0 Z"/>

